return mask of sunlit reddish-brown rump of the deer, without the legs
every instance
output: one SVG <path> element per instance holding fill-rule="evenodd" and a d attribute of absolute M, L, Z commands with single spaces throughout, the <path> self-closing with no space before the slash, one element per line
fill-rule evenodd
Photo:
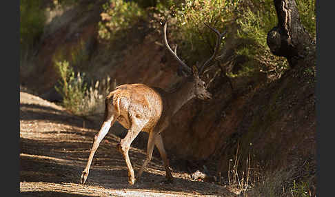
<path fill-rule="evenodd" d="M 142 131 L 150 132 L 163 112 L 163 98 L 159 92 L 159 88 L 141 83 L 120 85 L 106 96 L 105 116 L 114 111 L 116 121 L 126 129 L 130 128 L 135 117 L 147 122 Z"/>

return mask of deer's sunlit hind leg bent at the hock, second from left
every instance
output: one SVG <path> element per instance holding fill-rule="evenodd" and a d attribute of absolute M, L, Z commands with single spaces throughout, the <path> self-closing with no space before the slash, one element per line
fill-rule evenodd
<path fill-rule="evenodd" d="M 139 132 L 141 132 L 145 123 L 146 123 L 145 121 L 139 121 L 136 119 L 135 120 L 132 119 L 132 126 L 128 130 L 127 135 L 118 144 L 118 149 L 122 153 L 123 157 L 125 158 L 125 164 L 128 167 L 128 182 L 130 185 L 134 185 L 136 178 L 134 175 L 134 169 L 132 168 L 132 163 L 130 162 L 128 152 L 130 149 L 130 145 L 132 144 L 132 141 L 134 141 L 136 136 L 139 135 Z"/>

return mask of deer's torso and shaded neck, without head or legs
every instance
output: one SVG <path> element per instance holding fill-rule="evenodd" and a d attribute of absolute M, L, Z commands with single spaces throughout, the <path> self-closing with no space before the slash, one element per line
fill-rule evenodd
<path fill-rule="evenodd" d="M 105 113 L 114 113 L 116 121 L 126 129 L 130 129 L 132 117 L 136 117 L 144 123 L 143 132 L 154 130 L 159 134 L 170 123 L 170 117 L 195 97 L 193 83 L 182 84 L 172 92 L 141 83 L 120 85 L 106 96 Z"/>

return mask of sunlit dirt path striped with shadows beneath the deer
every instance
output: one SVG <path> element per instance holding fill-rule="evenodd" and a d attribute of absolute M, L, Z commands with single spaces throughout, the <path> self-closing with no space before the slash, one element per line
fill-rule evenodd
<path fill-rule="evenodd" d="M 119 137 L 112 132 L 101 142 L 88 180 L 81 185 L 81 171 L 98 132 L 97 126 L 83 123 L 54 103 L 20 93 L 21 196 L 234 196 L 225 187 L 192 181 L 183 172 L 173 173 L 174 183 L 163 183 L 160 158 L 152 159 L 141 181 L 128 185 L 123 156 L 115 149 Z M 131 147 L 136 172 L 144 158 L 143 149 Z"/>

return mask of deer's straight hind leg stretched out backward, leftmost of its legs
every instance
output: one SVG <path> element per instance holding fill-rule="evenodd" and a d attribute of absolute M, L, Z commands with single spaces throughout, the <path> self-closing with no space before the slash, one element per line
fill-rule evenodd
<path fill-rule="evenodd" d="M 90 156 L 88 157 L 88 163 L 85 169 L 83 170 L 83 172 L 81 173 L 81 184 L 84 184 L 86 182 L 86 179 L 88 178 L 88 173 L 90 171 L 90 166 L 92 163 L 94 153 L 97 151 L 101 140 L 105 137 L 105 135 L 110 130 L 110 127 L 115 123 L 116 118 L 117 117 L 115 114 L 105 114 L 105 121 L 103 121 L 103 124 L 101 125 L 101 129 L 99 133 L 94 136 L 94 143 L 92 145 Z"/>

